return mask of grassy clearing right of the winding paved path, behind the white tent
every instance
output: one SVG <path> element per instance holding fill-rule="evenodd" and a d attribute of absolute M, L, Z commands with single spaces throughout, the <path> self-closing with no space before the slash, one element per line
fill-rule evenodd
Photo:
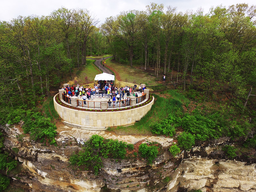
<path fill-rule="evenodd" d="M 111 68 L 115 69 L 121 80 L 127 83 L 133 84 L 146 84 L 150 85 L 158 85 L 155 81 L 155 77 L 151 76 L 148 72 L 145 72 L 141 69 L 130 67 L 129 65 L 122 65 L 116 62 L 112 62 L 111 58 L 106 60 L 106 67 L 110 66 Z"/>

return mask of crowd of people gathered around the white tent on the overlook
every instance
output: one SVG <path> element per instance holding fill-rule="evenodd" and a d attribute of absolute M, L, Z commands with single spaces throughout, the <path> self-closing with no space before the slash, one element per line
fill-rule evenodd
<path fill-rule="evenodd" d="M 144 95 L 144 89 L 146 89 L 145 85 L 139 85 L 134 84 L 134 86 L 124 86 L 124 87 L 115 87 L 113 85 L 112 81 L 98 81 L 97 84 L 94 84 L 93 87 L 84 87 L 73 85 L 73 86 L 66 86 L 62 87 L 64 89 L 64 98 L 66 102 L 70 102 L 66 100 L 67 98 L 77 96 L 80 97 L 80 99 L 84 100 L 84 104 L 86 104 L 86 99 L 93 100 L 93 95 L 99 94 L 102 98 L 109 98 L 108 102 L 110 101 L 110 98 L 112 99 L 113 103 L 115 104 L 122 101 L 122 106 L 129 105 L 129 96 L 135 96 L 138 97 L 137 92 L 140 92 L 141 95 Z M 126 94 L 126 97 L 124 97 Z M 66 96 L 66 97 L 65 97 Z M 122 99 L 123 98 L 123 99 Z M 125 103 L 126 101 L 126 103 Z M 111 102 L 111 101 L 110 101 Z"/>

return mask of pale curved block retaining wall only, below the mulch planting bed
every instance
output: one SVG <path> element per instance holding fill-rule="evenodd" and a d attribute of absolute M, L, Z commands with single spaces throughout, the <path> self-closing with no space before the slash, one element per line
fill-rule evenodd
<path fill-rule="evenodd" d="M 64 120 L 64 123 L 79 128 L 89 128 L 95 130 L 104 130 L 107 127 L 125 126 L 134 124 L 145 116 L 151 109 L 155 98 L 146 105 L 139 108 L 132 108 L 119 111 L 80 111 L 76 109 L 66 108 L 59 105 L 53 98 L 54 108 L 59 116 Z"/>

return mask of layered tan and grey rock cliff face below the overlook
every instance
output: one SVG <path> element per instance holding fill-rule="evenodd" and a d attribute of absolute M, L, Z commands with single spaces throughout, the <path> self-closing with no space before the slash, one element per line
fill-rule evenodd
<path fill-rule="evenodd" d="M 10 176 L 27 184 L 30 191 L 96 192 L 106 191 L 106 188 L 125 192 L 256 191 L 256 164 L 210 159 L 219 157 L 212 150 L 216 143 L 194 148 L 190 153 L 182 152 L 175 158 L 166 151 L 152 166 L 146 161 L 104 159 L 104 167 L 99 176 L 95 176 L 69 166 L 69 156 L 81 150 L 75 140 L 69 140 L 69 146 L 46 147 L 30 141 L 29 137 L 17 138 L 18 128 L 4 129 L 8 135 L 4 141 L 6 150 L 22 162 L 17 168 L 20 171 L 11 172 Z"/>

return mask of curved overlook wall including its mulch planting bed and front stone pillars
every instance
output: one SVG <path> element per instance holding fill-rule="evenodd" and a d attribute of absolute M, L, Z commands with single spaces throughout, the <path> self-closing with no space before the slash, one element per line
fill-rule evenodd
<path fill-rule="evenodd" d="M 81 107 L 77 105 L 80 98 L 73 96 L 70 98 L 70 103 L 65 102 L 61 98 L 63 96 L 61 92 L 54 96 L 53 102 L 64 124 L 81 129 L 103 131 L 108 127 L 132 125 L 145 116 L 154 104 L 154 96 L 149 96 L 147 93 L 144 100 L 141 97 L 141 101 L 134 96 L 129 97 L 129 105 L 124 107 L 113 104 L 108 106 L 108 99 L 97 101 L 100 102 L 100 108 Z"/>

